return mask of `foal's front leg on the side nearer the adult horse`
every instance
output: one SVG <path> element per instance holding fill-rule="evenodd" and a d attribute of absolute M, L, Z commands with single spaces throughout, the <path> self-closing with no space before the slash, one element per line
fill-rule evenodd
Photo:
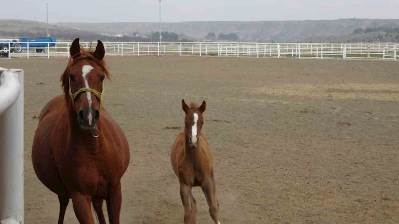
<path fill-rule="evenodd" d="M 184 223 L 185 224 L 195 224 L 196 217 L 193 214 L 193 209 L 195 214 L 197 214 L 197 205 L 194 200 L 193 195 L 191 194 L 192 186 L 185 185 L 184 183 L 180 183 L 180 197 L 182 198 L 183 207 L 184 207 Z M 193 201 L 193 202 L 192 202 Z M 195 206 L 193 208 L 193 205 Z"/>

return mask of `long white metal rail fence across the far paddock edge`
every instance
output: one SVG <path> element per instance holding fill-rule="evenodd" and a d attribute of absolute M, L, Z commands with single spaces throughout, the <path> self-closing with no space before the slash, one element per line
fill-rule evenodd
<path fill-rule="evenodd" d="M 11 44 L 21 43 L 14 49 Z M 37 42 L 35 42 L 37 44 Z M 54 47 L 29 47 L 29 43 L 10 42 L 7 57 L 68 56 L 71 42 L 56 42 Z M 80 43 L 89 48 L 90 42 Z M 91 47 L 96 47 L 93 42 Z M 396 43 L 231 43 L 231 42 L 104 42 L 108 55 L 198 55 L 223 57 L 397 59 Z M 20 51 L 20 52 L 18 52 Z M 12 53 L 10 53 L 12 52 Z"/>

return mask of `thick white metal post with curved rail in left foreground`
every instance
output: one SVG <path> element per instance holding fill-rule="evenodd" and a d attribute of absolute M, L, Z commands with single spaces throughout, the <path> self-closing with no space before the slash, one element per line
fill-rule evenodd
<path fill-rule="evenodd" d="M 23 70 L 0 68 L 0 223 L 23 224 Z"/>

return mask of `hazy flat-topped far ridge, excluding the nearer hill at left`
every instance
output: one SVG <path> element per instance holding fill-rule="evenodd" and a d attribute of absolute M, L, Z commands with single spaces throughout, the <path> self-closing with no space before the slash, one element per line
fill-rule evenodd
<path fill-rule="evenodd" d="M 62 23 L 94 32 L 157 31 L 159 23 Z M 399 26 L 399 19 L 337 19 L 304 21 L 211 21 L 162 23 L 162 30 L 203 38 L 207 33 L 236 33 L 245 41 L 299 42 L 310 36 L 340 36 L 352 33 L 356 28 Z"/>

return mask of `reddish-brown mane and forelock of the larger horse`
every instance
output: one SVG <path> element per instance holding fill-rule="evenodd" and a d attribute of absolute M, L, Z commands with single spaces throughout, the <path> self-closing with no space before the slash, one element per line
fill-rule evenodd
<path fill-rule="evenodd" d="M 110 80 L 111 79 L 111 74 L 108 72 L 108 68 L 105 65 L 104 59 L 103 60 L 98 60 L 96 57 L 93 55 L 94 51 L 91 50 L 91 43 L 90 43 L 90 48 L 89 49 L 84 49 L 82 46 L 80 46 L 80 53 L 76 55 L 75 57 L 70 57 L 68 64 L 65 68 L 65 71 L 61 75 L 61 86 L 62 89 L 64 90 L 64 95 L 65 98 L 67 98 L 69 94 L 69 74 L 72 69 L 72 66 L 74 66 L 79 60 L 81 59 L 88 59 L 91 61 L 94 61 L 104 72 L 105 77 Z"/>

